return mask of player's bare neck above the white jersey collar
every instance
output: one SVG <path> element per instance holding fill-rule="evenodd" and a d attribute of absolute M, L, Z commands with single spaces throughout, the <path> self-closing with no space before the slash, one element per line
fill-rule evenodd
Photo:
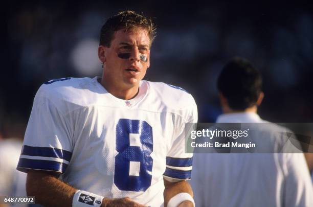
<path fill-rule="evenodd" d="M 104 81 L 103 77 L 100 83 L 108 91 L 108 93 L 119 99 L 129 100 L 135 98 L 139 93 L 139 85 L 130 88 L 116 88 L 113 84 L 110 84 L 109 81 Z"/>

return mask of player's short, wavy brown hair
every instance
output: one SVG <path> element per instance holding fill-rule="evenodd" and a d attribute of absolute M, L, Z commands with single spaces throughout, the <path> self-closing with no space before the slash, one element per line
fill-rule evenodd
<path fill-rule="evenodd" d="M 122 11 L 118 14 L 111 16 L 107 19 L 105 24 L 102 26 L 100 33 L 100 45 L 110 47 L 111 40 L 114 37 L 114 33 L 120 29 L 125 31 L 133 28 L 144 28 L 148 32 L 150 38 L 150 45 L 155 37 L 156 27 L 150 18 L 143 15 L 137 14 L 134 11 Z"/>

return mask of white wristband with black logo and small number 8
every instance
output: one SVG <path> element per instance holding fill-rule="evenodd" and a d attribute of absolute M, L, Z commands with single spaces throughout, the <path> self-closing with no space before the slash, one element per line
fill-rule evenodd
<path fill-rule="evenodd" d="M 103 198 L 94 193 L 77 190 L 73 197 L 73 207 L 100 207 Z"/>

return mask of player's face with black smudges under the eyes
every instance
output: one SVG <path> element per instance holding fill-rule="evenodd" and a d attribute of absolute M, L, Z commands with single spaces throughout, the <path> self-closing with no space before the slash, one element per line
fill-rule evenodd
<path fill-rule="evenodd" d="M 150 38 L 145 29 L 118 30 L 110 47 L 100 46 L 104 81 L 111 89 L 137 87 L 150 66 Z"/>

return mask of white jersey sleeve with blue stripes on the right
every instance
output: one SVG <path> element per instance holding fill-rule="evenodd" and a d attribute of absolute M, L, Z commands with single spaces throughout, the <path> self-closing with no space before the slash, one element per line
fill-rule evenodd
<path fill-rule="evenodd" d="M 197 107 L 193 106 L 186 112 L 175 127 L 175 133 L 170 150 L 166 157 L 166 169 L 163 177 L 171 182 L 189 180 L 192 170 L 192 153 L 185 153 L 185 123 L 197 122 Z"/>

